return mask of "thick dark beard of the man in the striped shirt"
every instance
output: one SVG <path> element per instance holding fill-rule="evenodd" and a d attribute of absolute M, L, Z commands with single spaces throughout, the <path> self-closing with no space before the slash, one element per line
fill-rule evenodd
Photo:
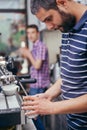
<path fill-rule="evenodd" d="M 61 19 L 62 19 L 62 24 L 60 25 L 60 30 L 61 32 L 69 32 L 72 30 L 72 28 L 76 24 L 76 17 L 73 16 L 70 13 L 65 13 L 64 11 L 58 10 L 58 13 L 60 13 Z"/>

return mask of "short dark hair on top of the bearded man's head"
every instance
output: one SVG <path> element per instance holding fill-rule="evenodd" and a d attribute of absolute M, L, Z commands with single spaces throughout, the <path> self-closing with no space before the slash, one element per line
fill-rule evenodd
<path fill-rule="evenodd" d="M 56 0 L 31 0 L 31 12 L 33 14 L 36 14 L 41 7 L 45 10 L 58 10 Z"/>

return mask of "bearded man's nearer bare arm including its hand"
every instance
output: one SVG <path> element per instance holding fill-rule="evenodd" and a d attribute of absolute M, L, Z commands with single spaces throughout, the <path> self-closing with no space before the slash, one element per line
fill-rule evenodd
<path fill-rule="evenodd" d="M 42 100 L 39 97 L 37 97 L 37 99 L 34 97 L 29 97 L 29 102 L 26 102 L 25 99 L 22 109 L 33 110 L 25 113 L 26 115 L 70 114 L 87 112 L 87 94 L 77 98 L 57 102 L 52 102 L 45 98 Z"/>

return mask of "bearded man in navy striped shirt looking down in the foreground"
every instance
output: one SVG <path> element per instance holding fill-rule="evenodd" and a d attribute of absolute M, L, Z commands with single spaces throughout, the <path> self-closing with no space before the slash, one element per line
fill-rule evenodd
<path fill-rule="evenodd" d="M 87 130 L 87 7 L 74 0 L 31 2 L 32 13 L 48 29 L 63 32 L 61 78 L 44 94 L 25 97 L 23 109 L 33 110 L 27 115 L 67 114 L 69 130 Z M 61 93 L 64 101 L 52 102 Z"/>

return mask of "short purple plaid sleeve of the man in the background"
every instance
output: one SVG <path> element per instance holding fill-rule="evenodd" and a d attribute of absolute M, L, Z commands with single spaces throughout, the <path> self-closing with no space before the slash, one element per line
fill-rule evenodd
<path fill-rule="evenodd" d="M 45 60 L 46 59 L 46 47 L 45 46 L 39 46 L 37 50 L 37 56 L 36 59 Z"/>

